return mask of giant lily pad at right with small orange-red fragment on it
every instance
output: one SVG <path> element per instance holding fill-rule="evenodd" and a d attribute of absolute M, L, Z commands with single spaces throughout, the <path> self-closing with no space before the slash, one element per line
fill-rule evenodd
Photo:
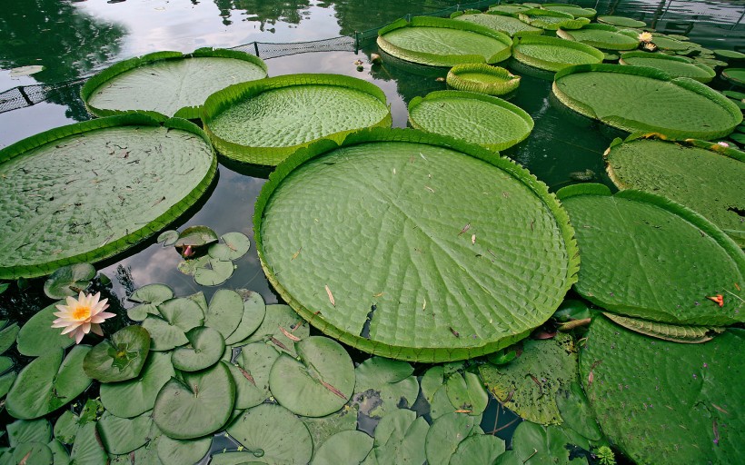
<path fill-rule="evenodd" d="M 698 213 L 651 193 L 611 195 L 600 184 L 570 186 L 559 197 L 580 246 L 575 289 L 583 297 L 656 322 L 745 322 L 745 253 Z M 718 294 L 722 307 L 707 299 Z"/>

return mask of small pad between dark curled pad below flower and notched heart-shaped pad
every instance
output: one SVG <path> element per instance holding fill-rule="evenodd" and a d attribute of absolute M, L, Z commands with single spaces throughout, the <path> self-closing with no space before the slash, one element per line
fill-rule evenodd
<path fill-rule="evenodd" d="M 117 417 L 136 417 L 153 408 L 158 392 L 174 375 L 171 354 L 151 351 L 138 378 L 101 385 L 101 403 Z"/>

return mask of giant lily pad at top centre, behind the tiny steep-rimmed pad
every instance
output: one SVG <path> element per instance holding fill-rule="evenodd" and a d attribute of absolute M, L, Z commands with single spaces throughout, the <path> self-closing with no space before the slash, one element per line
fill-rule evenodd
<path fill-rule="evenodd" d="M 402 60 L 431 66 L 494 64 L 510 57 L 510 36 L 452 19 L 414 16 L 378 31 L 378 46 Z"/>

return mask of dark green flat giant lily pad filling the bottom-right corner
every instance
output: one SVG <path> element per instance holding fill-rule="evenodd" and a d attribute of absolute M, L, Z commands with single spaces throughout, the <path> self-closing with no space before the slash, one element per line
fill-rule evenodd
<path fill-rule="evenodd" d="M 743 463 L 744 344 L 740 329 L 680 344 L 598 316 L 580 354 L 581 380 L 602 430 L 631 460 Z"/>

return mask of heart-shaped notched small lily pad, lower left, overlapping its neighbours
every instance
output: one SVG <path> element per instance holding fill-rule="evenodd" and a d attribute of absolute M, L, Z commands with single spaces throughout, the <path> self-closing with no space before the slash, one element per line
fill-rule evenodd
<path fill-rule="evenodd" d="M 235 384 L 224 362 L 196 372 L 183 372 L 158 392 L 153 420 L 175 440 L 200 438 L 223 428 L 233 412 Z"/>

